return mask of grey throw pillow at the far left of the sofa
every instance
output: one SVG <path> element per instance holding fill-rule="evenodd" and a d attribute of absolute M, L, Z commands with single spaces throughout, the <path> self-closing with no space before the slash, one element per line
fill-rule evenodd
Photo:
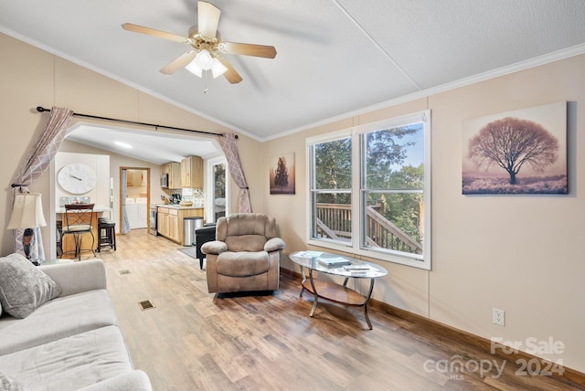
<path fill-rule="evenodd" d="M 20 254 L 0 258 L 0 303 L 15 318 L 26 318 L 38 306 L 61 294 L 57 283 Z"/>

